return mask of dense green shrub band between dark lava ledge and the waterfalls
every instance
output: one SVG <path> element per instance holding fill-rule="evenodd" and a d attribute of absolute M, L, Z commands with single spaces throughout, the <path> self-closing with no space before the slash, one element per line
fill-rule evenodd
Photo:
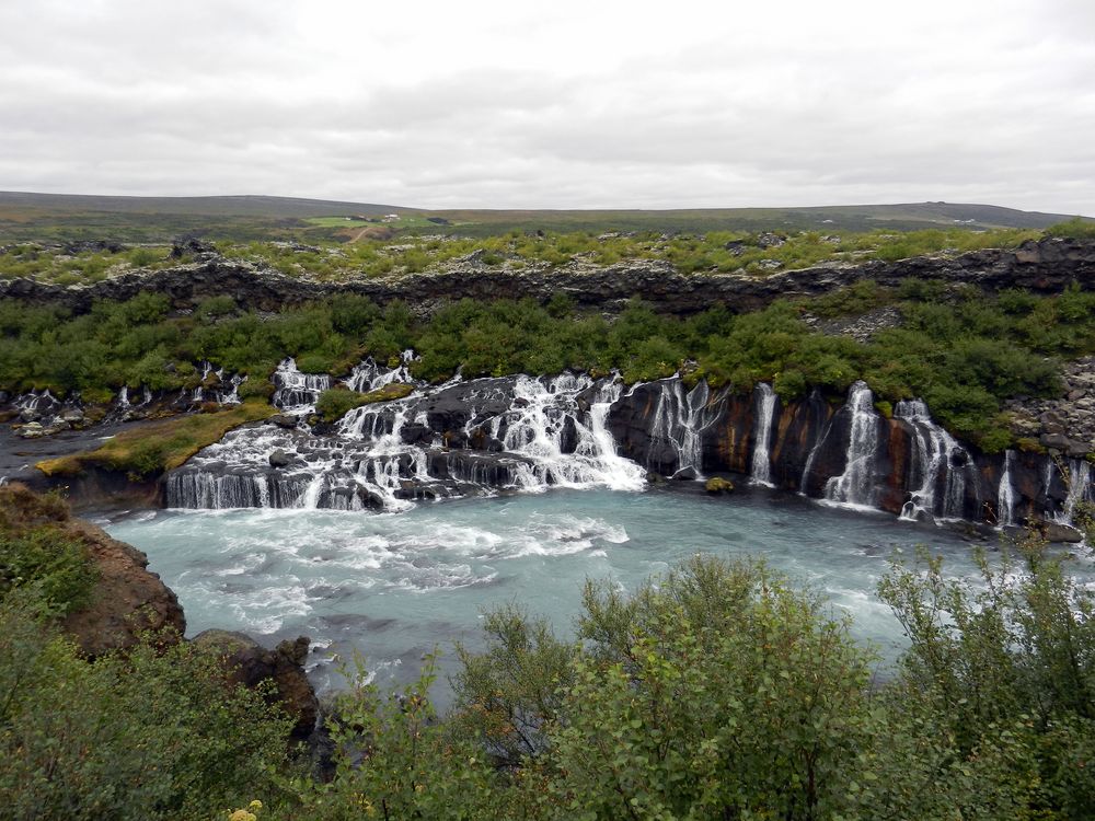
<path fill-rule="evenodd" d="M 806 322 L 885 307 L 890 319 L 866 342 Z M 718 305 L 687 320 L 634 301 L 607 319 L 564 294 L 546 305 L 464 300 L 428 321 L 403 303 L 380 309 L 353 294 L 274 315 L 241 311 L 228 297 L 187 315 L 172 315 L 155 293 L 99 302 L 81 316 L 0 301 L 0 390 L 78 391 L 84 403 L 107 402 L 123 385 L 192 390 L 203 384 L 203 361 L 247 374 L 241 396 L 267 397 L 284 357 L 306 372 L 345 375 L 366 356 L 385 361 L 412 347 L 420 355 L 415 374 L 431 381 L 458 368 L 466 378 L 618 368 L 629 382 L 681 370 L 741 392 L 772 381 L 793 400 L 811 385 L 842 395 L 864 379 L 883 402 L 924 398 L 954 433 L 994 451 L 1013 440 L 1003 401 L 1056 395 L 1060 360 L 1095 350 L 1095 293 L 987 296 L 918 279 L 892 290 L 862 281 L 814 300 L 740 315 Z"/>

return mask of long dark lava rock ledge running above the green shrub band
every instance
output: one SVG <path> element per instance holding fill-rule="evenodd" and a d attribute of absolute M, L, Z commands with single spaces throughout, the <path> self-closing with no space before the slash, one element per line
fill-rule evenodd
<path fill-rule="evenodd" d="M 187 310 L 207 297 L 227 294 L 261 311 L 338 293 L 358 293 L 378 303 L 394 299 L 428 313 L 462 298 L 489 300 L 504 293 L 546 301 L 564 292 L 584 307 L 618 309 L 634 296 L 667 313 L 687 315 L 725 302 L 734 311 L 750 311 L 779 298 L 809 297 L 873 279 L 895 286 L 908 277 L 967 284 L 986 290 L 1025 288 L 1039 293 L 1062 290 L 1072 281 L 1095 284 L 1095 242 L 1063 239 L 1029 241 L 1015 250 L 976 251 L 954 256 L 930 255 L 896 263 L 833 264 L 768 276 L 679 274 L 665 261 L 629 261 L 611 266 L 575 262 L 553 268 L 533 264 L 521 270 L 491 268 L 463 262 L 422 274 L 351 280 L 343 284 L 293 278 L 251 263 L 217 254 L 152 271 L 126 271 L 101 282 L 59 286 L 31 279 L 0 281 L 0 299 L 54 302 L 76 312 L 90 310 L 96 299 L 130 299 L 154 290 L 175 309 Z"/>

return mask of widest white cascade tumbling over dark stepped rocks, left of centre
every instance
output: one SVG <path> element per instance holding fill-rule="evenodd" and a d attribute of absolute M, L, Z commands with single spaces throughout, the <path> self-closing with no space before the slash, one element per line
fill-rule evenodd
<path fill-rule="evenodd" d="M 395 381 L 392 373 L 407 378 L 410 360 L 407 354 L 388 371 L 367 360 L 355 369 L 355 383 L 373 390 Z M 279 367 L 276 382 L 281 405 L 298 412 L 328 383 L 301 374 L 291 360 Z M 397 511 L 416 499 L 498 488 L 638 490 L 645 472 L 616 453 L 606 426 L 622 391 L 615 377 L 569 373 L 419 383 L 405 398 L 350 410 L 332 435 L 240 428 L 171 474 L 168 505 Z M 430 426 L 438 406 L 443 421 Z M 446 427 L 453 421 L 454 428 Z M 473 443 L 476 449 L 468 449 Z"/>

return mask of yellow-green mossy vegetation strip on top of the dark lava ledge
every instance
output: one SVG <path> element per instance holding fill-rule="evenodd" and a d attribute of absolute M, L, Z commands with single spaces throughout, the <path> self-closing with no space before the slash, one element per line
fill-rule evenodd
<path fill-rule="evenodd" d="M 418 274 L 459 264 L 519 273 L 534 266 L 603 266 L 636 261 L 664 262 L 682 274 L 736 271 L 765 276 L 823 263 L 895 262 L 924 254 L 956 255 L 983 248 L 1014 248 L 1042 235 L 1090 235 L 1093 230 L 1086 223 L 1076 222 L 1045 233 L 1030 229 L 971 231 L 964 228 L 841 234 L 820 231 L 712 231 L 705 234 L 514 231 L 494 236 L 404 235 L 393 239 L 382 232 L 380 236 L 349 244 L 254 241 L 246 244 L 222 242 L 216 248 L 192 243 L 189 250 L 216 250 L 230 259 L 325 282 Z M 110 242 L 21 243 L 0 247 L 0 279 L 25 277 L 57 285 L 92 284 L 126 270 L 177 265 L 188 258 L 186 252 L 187 246 L 130 248 Z"/>

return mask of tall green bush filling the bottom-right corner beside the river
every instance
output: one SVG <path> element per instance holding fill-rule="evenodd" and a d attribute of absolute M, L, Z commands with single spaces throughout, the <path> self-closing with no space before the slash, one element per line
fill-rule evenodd
<path fill-rule="evenodd" d="M 980 556 L 980 579 L 922 554 L 880 586 L 911 641 L 901 707 L 934 717 L 952 772 L 977 774 L 964 818 L 1095 813 L 1095 599 L 1064 560 L 1028 536 L 999 563 Z"/>

